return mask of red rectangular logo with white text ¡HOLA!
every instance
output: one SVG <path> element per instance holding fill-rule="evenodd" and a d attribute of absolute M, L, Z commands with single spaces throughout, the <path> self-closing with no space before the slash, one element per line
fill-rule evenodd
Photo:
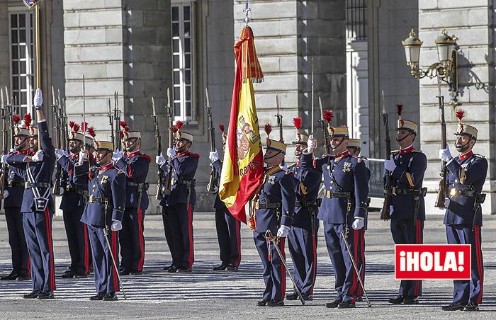
<path fill-rule="evenodd" d="M 397 244 L 395 279 L 470 279 L 470 245 Z"/>

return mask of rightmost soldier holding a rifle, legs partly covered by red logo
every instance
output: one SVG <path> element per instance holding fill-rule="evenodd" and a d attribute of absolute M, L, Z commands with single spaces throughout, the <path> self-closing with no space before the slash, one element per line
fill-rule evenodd
<path fill-rule="evenodd" d="M 483 226 L 481 204 L 485 200 L 482 193 L 487 174 L 487 160 L 472 149 L 477 142 L 477 129 L 464 124 L 463 110 L 457 110 L 459 120 L 455 132 L 455 148 L 458 156 L 451 156 L 449 147 L 439 150 L 439 158 L 446 161 L 449 188 L 444 201 L 446 214 L 446 236 L 448 244 L 470 244 L 470 280 L 453 280 L 453 302 L 443 310 L 479 310 L 483 298 L 484 265 L 481 250 L 480 228 Z"/>

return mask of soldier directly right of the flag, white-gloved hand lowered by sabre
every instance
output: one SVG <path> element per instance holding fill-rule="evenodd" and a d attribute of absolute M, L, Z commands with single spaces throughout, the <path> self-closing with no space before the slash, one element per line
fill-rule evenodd
<path fill-rule="evenodd" d="M 282 307 L 286 292 L 286 268 L 266 231 L 278 237 L 278 246 L 283 255 L 284 240 L 293 223 L 295 210 L 295 183 L 291 173 L 281 167 L 286 156 L 284 142 L 269 139 L 270 125 L 266 125 L 267 140 L 264 162 L 266 164 L 264 181 L 259 186 L 255 201 L 257 227 L 254 231 L 255 246 L 264 264 L 264 297 L 257 302 L 258 307 Z"/>

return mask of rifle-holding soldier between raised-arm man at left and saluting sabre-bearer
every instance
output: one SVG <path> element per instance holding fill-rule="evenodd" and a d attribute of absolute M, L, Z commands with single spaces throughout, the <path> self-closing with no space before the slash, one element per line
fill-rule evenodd
<path fill-rule="evenodd" d="M 60 209 L 63 212 L 65 233 L 69 244 L 71 265 L 62 278 L 86 278 L 91 268 L 91 248 L 89 247 L 88 228 L 81 222 L 88 198 L 88 176 L 76 179 L 74 166 L 79 161 L 79 152 L 84 149 L 84 135 L 79 132 L 79 125 L 69 122 L 69 152 L 55 149 L 57 161 L 62 166 Z M 81 158 L 82 159 L 82 158 Z M 90 159 L 91 165 L 94 159 Z M 78 183 L 76 183 L 76 180 Z"/>

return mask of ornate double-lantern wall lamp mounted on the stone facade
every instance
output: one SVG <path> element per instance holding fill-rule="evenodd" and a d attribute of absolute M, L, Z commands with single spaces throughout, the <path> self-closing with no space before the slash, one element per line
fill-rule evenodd
<path fill-rule="evenodd" d="M 405 40 L 402 40 L 402 45 L 405 48 L 405 57 L 407 66 L 410 67 L 410 74 L 415 79 L 422 79 L 425 76 L 433 79 L 435 76 L 439 80 L 449 85 L 449 93 L 451 101 L 458 104 L 458 45 L 456 44 L 455 35 L 449 36 L 446 29 L 434 42 L 436 42 L 437 56 L 439 61 L 431 64 L 427 70 L 419 68 L 420 47 L 422 41 L 417 38 L 415 30 L 410 31 L 410 35 Z"/>

